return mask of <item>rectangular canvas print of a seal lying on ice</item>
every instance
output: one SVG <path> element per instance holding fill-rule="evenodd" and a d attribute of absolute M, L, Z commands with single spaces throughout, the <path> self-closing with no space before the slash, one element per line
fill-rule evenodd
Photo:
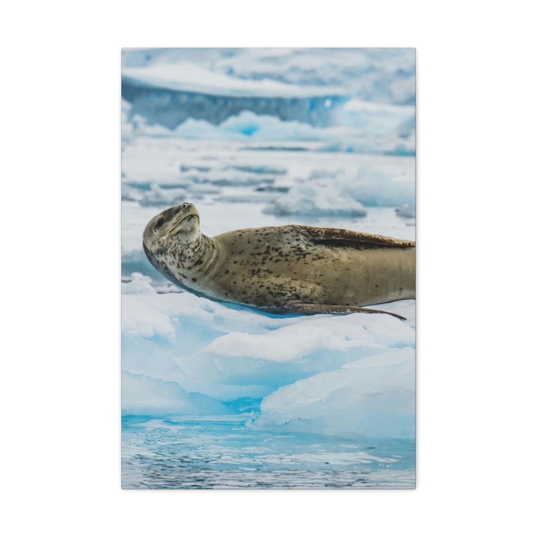
<path fill-rule="evenodd" d="M 121 53 L 125 489 L 415 487 L 415 50 Z"/>

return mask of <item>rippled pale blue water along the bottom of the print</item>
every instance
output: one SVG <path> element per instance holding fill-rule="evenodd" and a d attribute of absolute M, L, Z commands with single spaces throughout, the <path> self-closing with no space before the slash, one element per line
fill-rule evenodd
<path fill-rule="evenodd" d="M 248 418 L 124 417 L 122 488 L 415 487 L 414 440 L 257 431 Z"/>

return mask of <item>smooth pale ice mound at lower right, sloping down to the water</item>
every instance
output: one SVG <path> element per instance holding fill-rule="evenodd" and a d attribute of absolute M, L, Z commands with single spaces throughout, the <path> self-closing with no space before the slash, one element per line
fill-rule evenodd
<path fill-rule="evenodd" d="M 250 426 L 343 437 L 415 437 L 415 351 L 391 349 L 281 387 Z"/>

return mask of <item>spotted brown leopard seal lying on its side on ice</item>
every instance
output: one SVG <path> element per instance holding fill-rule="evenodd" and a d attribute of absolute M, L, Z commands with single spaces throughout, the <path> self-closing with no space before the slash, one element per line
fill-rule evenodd
<path fill-rule="evenodd" d="M 208 237 L 191 203 L 149 221 L 151 265 L 186 291 L 275 315 L 386 313 L 416 297 L 415 242 L 335 228 L 277 226 Z"/>

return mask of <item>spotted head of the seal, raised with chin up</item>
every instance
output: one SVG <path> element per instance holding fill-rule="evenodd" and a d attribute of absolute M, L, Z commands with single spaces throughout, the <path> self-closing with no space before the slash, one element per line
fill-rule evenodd
<path fill-rule="evenodd" d="M 167 264 L 169 252 L 181 258 L 200 238 L 200 217 L 191 203 L 170 207 L 153 217 L 143 230 L 143 249 L 153 266 Z"/>

